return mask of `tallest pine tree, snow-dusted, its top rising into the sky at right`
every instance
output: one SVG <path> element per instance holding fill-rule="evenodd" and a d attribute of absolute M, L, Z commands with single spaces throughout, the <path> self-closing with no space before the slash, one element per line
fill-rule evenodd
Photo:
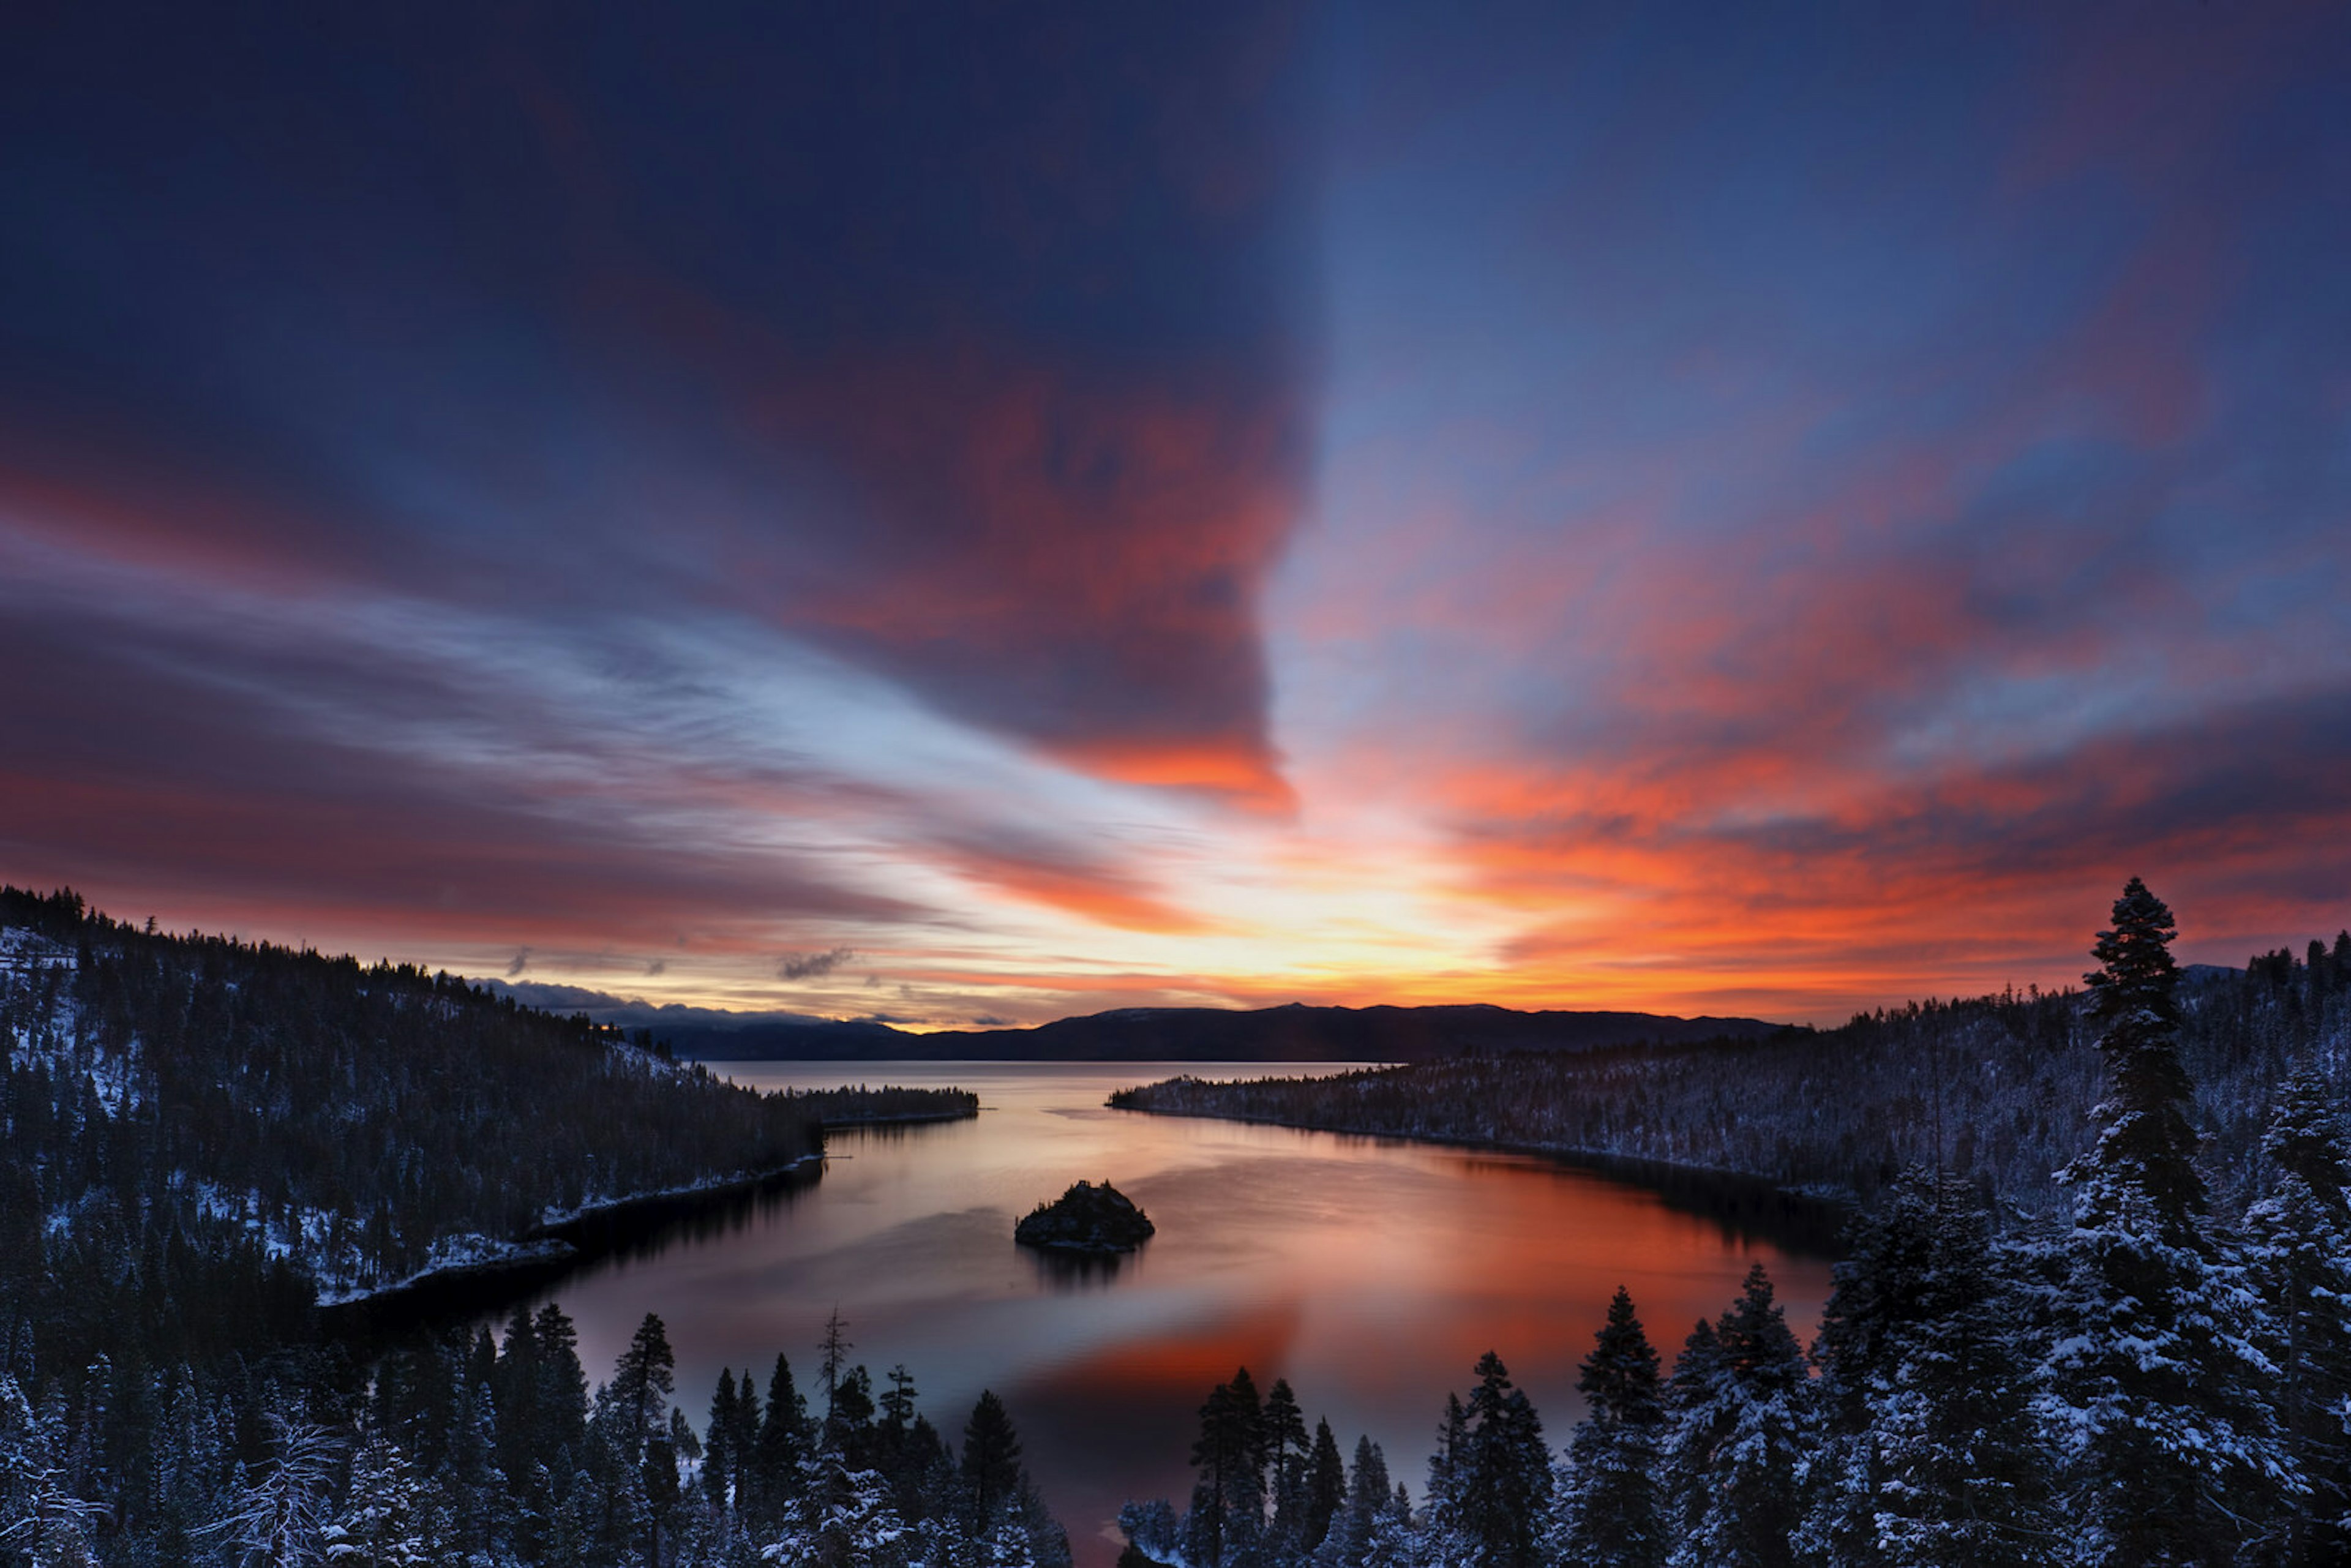
<path fill-rule="evenodd" d="M 2130 1568 L 2250 1552 L 2302 1490 L 2264 1399 L 2278 1368 L 2259 1349 L 2259 1295 L 2205 1225 L 2172 936 L 2172 912 L 2132 877 L 2092 947 L 2111 1098 L 2067 1168 L 2074 1229 L 2041 1401 L 2083 1561 Z"/>

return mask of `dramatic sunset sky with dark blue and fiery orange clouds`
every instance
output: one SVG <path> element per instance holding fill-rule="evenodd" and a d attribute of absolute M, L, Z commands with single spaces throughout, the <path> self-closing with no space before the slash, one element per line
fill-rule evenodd
<path fill-rule="evenodd" d="M 2351 924 L 2351 9 L 35 5 L 0 882 L 917 1027 Z"/>

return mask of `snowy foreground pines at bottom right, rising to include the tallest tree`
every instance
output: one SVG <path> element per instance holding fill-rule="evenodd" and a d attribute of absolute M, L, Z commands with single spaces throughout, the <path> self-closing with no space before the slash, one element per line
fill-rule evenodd
<path fill-rule="evenodd" d="M 2222 1218 L 2191 1121 L 2170 910 L 2132 879 L 2085 1006 L 2104 1098 L 2062 1218 L 2001 1225 L 1914 1166 L 1855 1222 L 1806 1352 L 1761 1265 L 1672 1368 L 1617 1291 L 1563 1453 L 1500 1356 L 1425 1490 L 1352 1467 L 1286 1382 L 1201 1408 L 1190 1507 L 1128 1563 L 1190 1568 L 1991 1568 L 2351 1559 L 2351 1145 L 2327 1063 L 2276 1091 Z M 2332 957 L 2332 954 L 2327 954 Z M 2295 976 L 2257 983 L 2283 985 Z M 2012 1218 L 2012 1215 L 2010 1215 Z"/>

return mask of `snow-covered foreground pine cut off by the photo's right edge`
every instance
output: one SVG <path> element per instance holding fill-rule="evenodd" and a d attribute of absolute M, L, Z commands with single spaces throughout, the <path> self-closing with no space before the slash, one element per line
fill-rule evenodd
<path fill-rule="evenodd" d="M 2330 959 L 2332 961 L 2332 959 Z M 2351 1556 L 2351 1204 L 2342 1117 L 2316 1067 L 2278 1093 L 2262 1152 L 2276 1185 L 2245 1215 L 2255 1274 L 2278 1326 L 2278 1420 L 2309 1493 L 2288 1521 L 2288 1561 Z"/>

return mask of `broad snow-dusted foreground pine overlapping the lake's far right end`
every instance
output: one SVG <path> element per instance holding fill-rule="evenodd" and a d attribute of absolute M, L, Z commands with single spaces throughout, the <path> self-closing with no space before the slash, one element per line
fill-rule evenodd
<path fill-rule="evenodd" d="M 1794 1561 L 1810 1446 L 1803 1349 L 1763 1265 L 1728 1312 L 1700 1324 L 1674 1363 L 1669 1472 L 1681 1521 L 1676 1568 L 1780 1568 Z"/>

